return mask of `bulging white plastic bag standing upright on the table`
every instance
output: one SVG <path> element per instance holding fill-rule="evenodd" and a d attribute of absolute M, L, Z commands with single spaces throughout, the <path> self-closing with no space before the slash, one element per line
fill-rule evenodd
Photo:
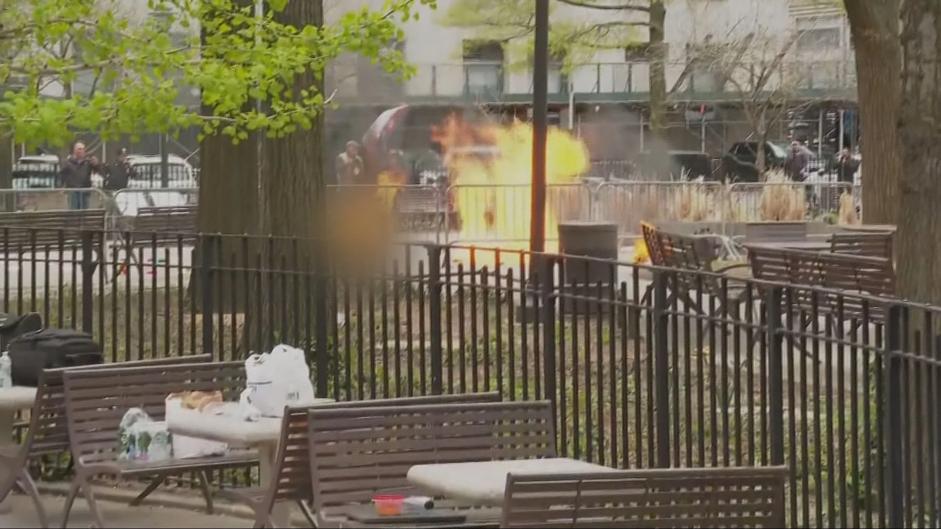
<path fill-rule="evenodd" d="M 311 369 L 304 351 L 277 345 L 270 353 L 253 354 L 245 361 L 246 390 L 240 399 L 267 417 L 280 417 L 285 406 L 313 400 Z"/>

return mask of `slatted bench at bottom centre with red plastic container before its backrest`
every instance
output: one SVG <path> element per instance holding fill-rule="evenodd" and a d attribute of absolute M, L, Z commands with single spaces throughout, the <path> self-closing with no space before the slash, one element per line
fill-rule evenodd
<path fill-rule="evenodd" d="M 556 455 L 548 401 L 315 408 L 308 417 L 317 527 L 422 526 L 367 523 L 353 516 L 353 509 L 369 505 L 376 493 L 407 493 L 407 473 L 415 465 Z M 435 527 L 499 526 L 492 509 L 436 502 L 438 507 L 466 518 Z"/>

